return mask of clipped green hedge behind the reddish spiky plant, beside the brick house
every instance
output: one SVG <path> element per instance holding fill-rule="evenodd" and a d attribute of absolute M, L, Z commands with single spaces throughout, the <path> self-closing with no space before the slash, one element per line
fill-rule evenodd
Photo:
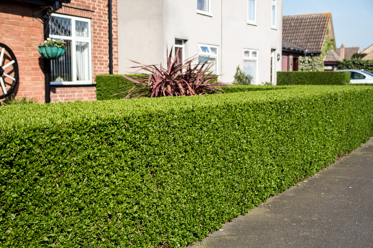
<path fill-rule="evenodd" d="M 126 74 L 127 77 L 142 77 L 146 74 Z M 216 78 L 212 78 L 213 81 L 218 81 Z M 135 84 L 129 83 L 130 81 L 125 79 L 120 74 L 103 74 L 96 75 L 96 96 L 97 100 L 112 100 L 112 99 L 123 99 L 126 93 L 112 96 L 126 90 L 130 90 Z"/>

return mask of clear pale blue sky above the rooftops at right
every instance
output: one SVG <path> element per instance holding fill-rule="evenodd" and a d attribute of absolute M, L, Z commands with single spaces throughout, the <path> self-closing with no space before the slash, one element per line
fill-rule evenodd
<path fill-rule="evenodd" d="M 332 13 L 337 47 L 373 44 L 373 0 L 282 0 L 282 15 Z"/>

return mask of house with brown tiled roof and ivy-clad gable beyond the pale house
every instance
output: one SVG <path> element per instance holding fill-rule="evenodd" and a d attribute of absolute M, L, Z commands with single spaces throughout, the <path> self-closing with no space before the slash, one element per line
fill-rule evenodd
<path fill-rule="evenodd" d="M 283 16 L 282 71 L 298 71 L 299 56 L 319 56 L 335 49 L 334 37 L 331 13 Z"/>

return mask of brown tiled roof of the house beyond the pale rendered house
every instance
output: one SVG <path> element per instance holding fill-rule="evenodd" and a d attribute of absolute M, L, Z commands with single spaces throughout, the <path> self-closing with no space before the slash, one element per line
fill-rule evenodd
<path fill-rule="evenodd" d="M 307 49 L 306 52 L 321 52 L 331 18 L 331 13 L 283 16 L 282 39 Z"/>

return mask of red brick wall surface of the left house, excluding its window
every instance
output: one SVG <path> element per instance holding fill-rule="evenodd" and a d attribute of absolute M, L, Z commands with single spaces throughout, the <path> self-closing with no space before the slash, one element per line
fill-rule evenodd
<path fill-rule="evenodd" d="M 39 99 L 38 103 L 43 103 L 45 100 L 44 60 L 40 57 L 38 45 L 44 41 L 43 20 L 41 19 L 44 10 L 34 18 L 32 17 L 33 13 L 39 10 L 41 10 L 40 7 L 32 4 L 0 0 L 0 42 L 12 49 L 18 61 L 19 86 L 13 93 L 16 96 Z M 113 73 L 118 73 L 117 0 L 112 0 L 112 11 Z M 63 7 L 56 13 L 91 19 L 93 79 L 97 74 L 108 74 L 107 0 L 71 0 L 70 4 L 63 3 Z M 51 87 L 51 102 L 77 99 L 96 100 L 94 90 L 95 87 L 53 86 Z"/>

